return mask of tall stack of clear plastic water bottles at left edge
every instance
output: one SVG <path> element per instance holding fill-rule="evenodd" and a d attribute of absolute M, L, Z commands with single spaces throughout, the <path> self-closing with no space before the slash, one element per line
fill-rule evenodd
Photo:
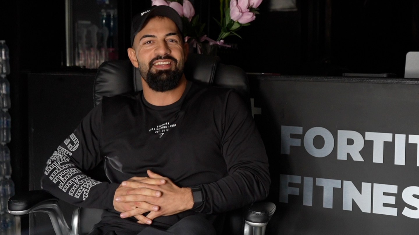
<path fill-rule="evenodd" d="M 4 40 L 0 40 L 0 235 L 15 235 L 15 217 L 7 210 L 10 197 L 15 194 L 15 184 L 10 176 L 10 74 L 9 49 Z"/>

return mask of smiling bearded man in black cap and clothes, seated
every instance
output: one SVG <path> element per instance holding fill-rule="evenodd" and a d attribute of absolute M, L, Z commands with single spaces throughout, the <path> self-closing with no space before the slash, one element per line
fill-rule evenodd
<path fill-rule="evenodd" d="M 128 55 L 143 90 L 104 97 L 47 161 L 44 190 L 106 209 L 96 232 L 213 234 L 222 212 L 267 197 L 251 114 L 234 91 L 186 80 L 182 27 L 167 6 L 135 16 Z M 102 160 L 111 183 L 83 174 Z"/>

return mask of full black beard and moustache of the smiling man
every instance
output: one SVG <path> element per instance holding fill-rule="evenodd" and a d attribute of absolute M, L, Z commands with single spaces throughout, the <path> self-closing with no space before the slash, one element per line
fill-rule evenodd
<path fill-rule="evenodd" d="M 175 69 L 165 69 L 152 72 L 151 68 L 154 61 L 158 59 L 173 60 L 175 63 Z M 147 82 L 148 87 L 156 92 L 166 92 L 175 89 L 179 85 L 183 74 L 183 63 L 178 66 L 178 60 L 172 56 L 158 56 L 150 61 L 148 68 L 149 69 L 146 75 L 147 79 L 145 79 L 145 81 Z"/>

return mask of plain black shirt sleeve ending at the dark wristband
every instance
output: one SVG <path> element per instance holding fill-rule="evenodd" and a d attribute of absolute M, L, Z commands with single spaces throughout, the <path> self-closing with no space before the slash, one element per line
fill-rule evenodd
<path fill-rule="evenodd" d="M 269 193 L 266 150 L 250 111 L 241 97 L 230 92 L 223 107 L 221 151 L 228 176 L 198 185 L 204 202 L 194 208 L 201 213 L 220 213 L 265 199 Z"/>

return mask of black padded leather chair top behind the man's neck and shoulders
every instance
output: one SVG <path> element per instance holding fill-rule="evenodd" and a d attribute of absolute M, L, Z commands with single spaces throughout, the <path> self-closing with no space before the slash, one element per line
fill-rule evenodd
<path fill-rule="evenodd" d="M 249 85 L 246 73 L 237 66 L 220 64 L 217 56 L 189 54 L 185 62 L 185 77 L 188 80 L 209 86 L 234 88 L 250 107 Z M 102 97 L 112 97 L 142 90 L 138 68 L 129 60 L 106 61 L 98 69 L 94 86 L 94 105 Z"/>

